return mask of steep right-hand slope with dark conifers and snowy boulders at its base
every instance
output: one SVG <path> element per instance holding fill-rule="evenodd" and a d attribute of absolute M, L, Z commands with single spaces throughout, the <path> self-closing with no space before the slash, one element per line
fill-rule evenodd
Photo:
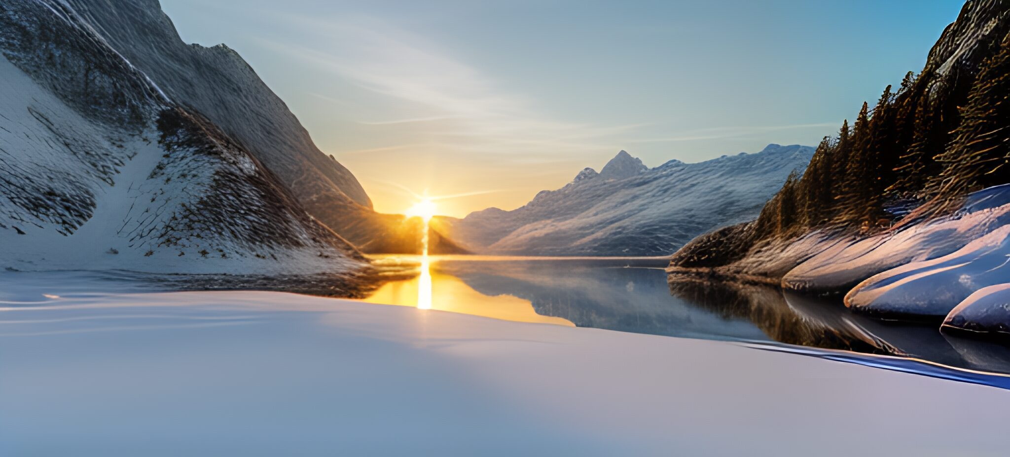
<path fill-rule="evenodd" d="M 921 74 L 889 86 L 873 110 L 864 104 L 756 220 L 677 252 L 672 280 L 722 274 L 848 292 L 853 309 L 901 319 L 942 316 L 1007 280 L 1008 93 L 1010 2 L 968 1 Z"/>

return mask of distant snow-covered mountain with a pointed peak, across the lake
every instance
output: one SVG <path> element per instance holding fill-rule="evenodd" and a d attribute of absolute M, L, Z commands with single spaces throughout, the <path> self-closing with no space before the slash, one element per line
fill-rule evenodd
<path fill-rule="evenodd" d="M 695 236 L 753 218 L 813 148 L 769 144 L 698 163 L 648 168 L 620 151 L 598 174 L 543 191 L 513 211 L 489 208 L 447 221 L 475 252 L 524 255 L 667 255 Z"/>

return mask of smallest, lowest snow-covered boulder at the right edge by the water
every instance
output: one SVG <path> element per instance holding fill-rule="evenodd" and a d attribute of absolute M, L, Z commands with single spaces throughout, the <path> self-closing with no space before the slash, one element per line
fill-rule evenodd
<path fill-rule="evenodd" d="M 1010 279 L 1010 276 L 1005 278 Z M 941 329 L 990 338 L 1010 338 L 1010 283 L 976 291 L 950 311 Z"/>

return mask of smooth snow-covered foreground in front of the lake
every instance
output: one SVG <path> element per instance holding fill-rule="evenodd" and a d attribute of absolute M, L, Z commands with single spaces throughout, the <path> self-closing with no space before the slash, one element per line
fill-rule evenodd
<path fill-rule="evenodd" d="M 5 456 L 1005 455 L 1010 391 L 985 385 L 290 294 L 30 282 L 0 288 Z"/>

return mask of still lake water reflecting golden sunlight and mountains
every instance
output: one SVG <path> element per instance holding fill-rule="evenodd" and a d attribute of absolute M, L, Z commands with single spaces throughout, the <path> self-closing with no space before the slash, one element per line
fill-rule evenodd
<path fill-rule="evenodd" d="M 513 321 L 784 343 L 1010 372 L 1004 346 L 943 335 L 935 326 L 868 319 L 838 299 L 690 278 L 668 282 L 664 266 L 659 258 L 434 256 L 430 303 L 435 310 Z M 417 282 L 386 283 L 367 301 L 417 306 Z"/>

